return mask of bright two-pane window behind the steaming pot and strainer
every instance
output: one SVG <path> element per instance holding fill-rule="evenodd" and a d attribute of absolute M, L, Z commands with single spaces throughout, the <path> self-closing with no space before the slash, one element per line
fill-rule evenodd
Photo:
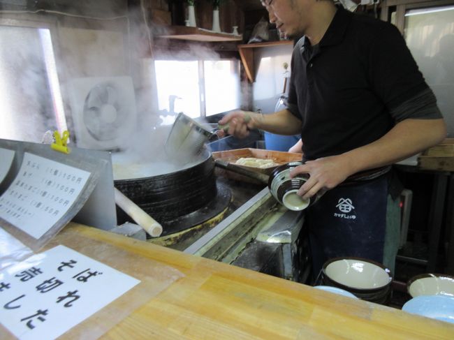
<path fill-rule="evenodd" d="M 172 124 L 177 112 L 198 118 L 240 106 L 236 59 L 156 60 L 154 66 L 163 124 Z"/>

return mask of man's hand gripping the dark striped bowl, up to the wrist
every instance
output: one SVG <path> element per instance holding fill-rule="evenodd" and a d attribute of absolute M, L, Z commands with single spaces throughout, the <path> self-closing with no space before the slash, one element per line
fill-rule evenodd
<path fill-rule="evenodd" d="M 330 156 L 307 161 L 290 172 L 293 178 L 298 174 L 309 174 L 309 179 L 298 190 L 303 199 L 311 198 L 318 191 L 332 189 L 353 175 L 351 166 L 343 156 Z"/>

